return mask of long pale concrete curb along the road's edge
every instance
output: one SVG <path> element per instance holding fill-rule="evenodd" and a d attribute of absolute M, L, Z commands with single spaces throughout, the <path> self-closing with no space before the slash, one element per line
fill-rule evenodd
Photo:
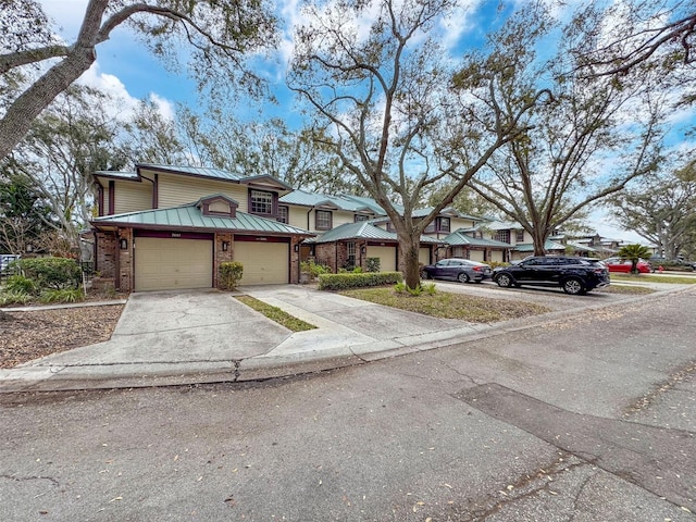
<path fill-rule="evenodd" d="M 658 290 L 650 296 L 651 298 L 662 298 L 691 289 L 692 287 Z M 645 302 L 645 296 L 626 298 L 621 301 L 622 304 L 636 302 Z M 110 303 L 112 302 L 110 301 Z M 600 310 L 614 306 L 616 303 L 595 303 L 531 318 L 513 319 L 493 325 L 470 324 L 436 333 L 405 336 L 363 345 L 332 347 L 324 350 L 316 349 L 285 355 L 273 355 L 273 350 L 271 350 L 262 356 L 240 360 L 21 366 L 0 370 L 0 394 L 244 383 L 291 377 L 474 343 L 508 333 L 532 330 L 552 321 L 572 319 L 588 310 Z M 148 371 L 138 371 L 139 366 L 145 364 L 148 364 Z M 152 365 L 158 368 L 152 369 Z"/>

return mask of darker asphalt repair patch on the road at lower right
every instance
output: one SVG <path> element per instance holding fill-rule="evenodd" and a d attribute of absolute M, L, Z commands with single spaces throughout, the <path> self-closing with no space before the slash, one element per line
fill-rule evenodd
<path fill-rule="evenodd" d="M 498 384 L 455 395 L 472 408 L 577 456 L 678 507 L 696 511 L 694 433 L 580 414 Z"/>

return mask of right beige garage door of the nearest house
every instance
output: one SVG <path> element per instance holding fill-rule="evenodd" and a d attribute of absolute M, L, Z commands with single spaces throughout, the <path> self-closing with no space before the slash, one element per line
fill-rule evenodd
<path fill-rule="evenodd" d="M 235 241 L 235 261 L 241 262 L 241 285 L 289 282 L 289 244 Z"/>

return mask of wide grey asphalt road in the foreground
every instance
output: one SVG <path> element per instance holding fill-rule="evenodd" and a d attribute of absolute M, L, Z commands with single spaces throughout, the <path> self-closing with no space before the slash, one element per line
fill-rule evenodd
<path fill-rule="evenodd" d="M 0 397 L 2 521 L 695 521 L 696 289 L 245 385 Z"/>

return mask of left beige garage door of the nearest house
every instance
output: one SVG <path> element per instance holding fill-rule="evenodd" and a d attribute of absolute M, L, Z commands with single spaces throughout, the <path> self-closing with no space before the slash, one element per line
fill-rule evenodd
<path fill-rule="evenodd" d="M 136 291 L 212 286 L 213 241 L 136 237 Z"/>

